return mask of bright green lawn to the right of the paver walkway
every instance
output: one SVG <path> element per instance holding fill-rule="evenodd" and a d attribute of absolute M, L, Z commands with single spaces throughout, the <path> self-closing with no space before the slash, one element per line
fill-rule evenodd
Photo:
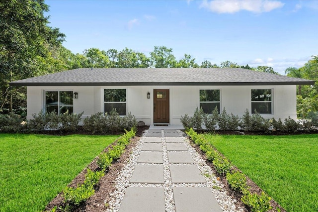
<path fill-rule="evenodd" d="M 205 137 L 287 211 L 318 211 L 318 134 Z"/>

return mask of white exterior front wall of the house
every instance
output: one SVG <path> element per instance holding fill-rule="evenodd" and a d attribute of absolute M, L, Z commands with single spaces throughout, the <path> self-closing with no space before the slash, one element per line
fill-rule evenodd
<path fill-rule="evenodd" d="M 146 125 L 154 123 L 153 97 L 154 89 L 169 90 L 170 124 L 181 124 L 181 115 L 193 115 L 199 103 L 199 90 L 220 89 L 221 110 L 225 107 L 228 113 L 243 115 L 247 108 L 251 112 L 251 89 L 272 89 L 272 114 L 266 118 L 285 119 L 290 116 L 296 119 L 296 86 L 95 86 L 95 87 L 27 87 L 27 118 L 44 109 L 45 91 L 78 92 L 74 99 L 74 112 L 84 111 L 83 118 L 104 111 L 104 89 L 127 89 L 127 112 L 131 112 Z M 151 98 L 147 99 L 150 92 Z"/>

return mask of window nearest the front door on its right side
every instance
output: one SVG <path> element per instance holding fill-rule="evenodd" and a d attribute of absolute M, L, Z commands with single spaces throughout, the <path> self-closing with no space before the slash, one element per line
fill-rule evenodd
<path fill-rule="evenodd" d="M 200 107 L 203 111 L 211 114 L 216 106 L 220 113 L 220 90 L 200 90 Z"/>

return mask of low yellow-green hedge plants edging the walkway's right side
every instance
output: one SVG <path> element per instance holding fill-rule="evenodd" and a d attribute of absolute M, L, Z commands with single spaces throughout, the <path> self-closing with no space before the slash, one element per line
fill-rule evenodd
<path fill-rule="evenodd" d="M 235 170 L 232 163 L 221 155 L 210 142 L 202 135 L 197 134 L 192 128 L 187 129 L 186 133 L 205 152 L 207 159 L 212 161 L 216 171 L 221 176 L 226 176 L 230 188 L 242 194 L 241 201 L 250 208 L 251 212 L 267 212 L 272 209 L 270 205 L 271 197 L 264 192 L 260 195 L 256 193 L 251 194 L 248 190 L 245 175 Z"/>

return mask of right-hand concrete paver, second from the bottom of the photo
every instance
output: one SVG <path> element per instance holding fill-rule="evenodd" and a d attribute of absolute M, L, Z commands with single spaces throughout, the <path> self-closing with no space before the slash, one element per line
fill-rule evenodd
<path fill-rule="evenodd" d="M 170 165 L 169 167 L 172 183 L 206 183 L 195 165 Z"/>

